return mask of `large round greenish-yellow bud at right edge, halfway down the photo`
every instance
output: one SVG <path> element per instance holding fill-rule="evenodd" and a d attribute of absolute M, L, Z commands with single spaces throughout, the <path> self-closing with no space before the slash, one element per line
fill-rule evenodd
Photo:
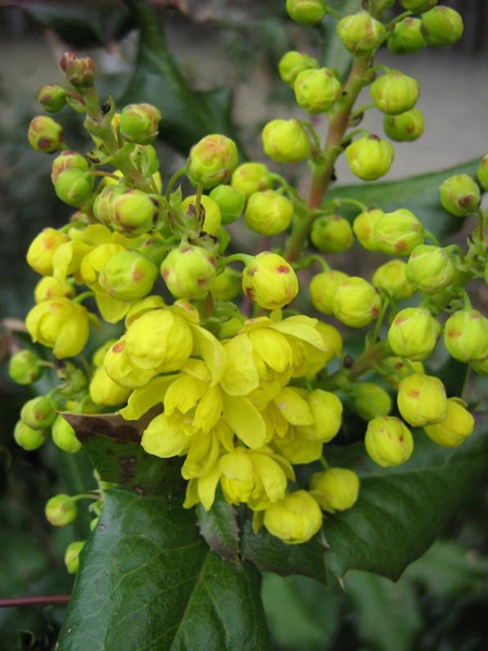
<path fill-rule="evenodd" d="M 483 361 L 488 357 L 488 319 L 476 309 L 454 312 L 446 321 L 444 343 L 458 361 Z"/>

